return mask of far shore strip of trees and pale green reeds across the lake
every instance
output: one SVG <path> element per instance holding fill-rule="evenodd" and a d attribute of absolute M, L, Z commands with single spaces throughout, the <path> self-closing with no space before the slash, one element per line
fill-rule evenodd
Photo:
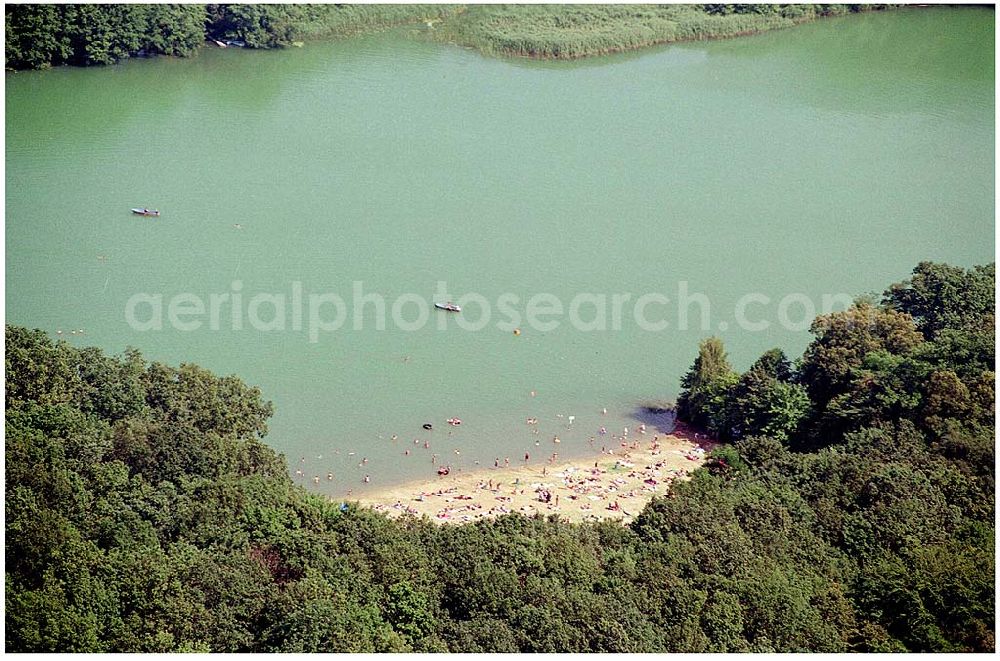
<path fill-rule="evenodd" d="M 206 39 L 249 48 L 421 22 L 484 52 L 579 57 L 786 27 L 885 5 L 6 5 L 6 67 L 191 55 Z M 438 29 L 434 29 L 441 23 Z"/>

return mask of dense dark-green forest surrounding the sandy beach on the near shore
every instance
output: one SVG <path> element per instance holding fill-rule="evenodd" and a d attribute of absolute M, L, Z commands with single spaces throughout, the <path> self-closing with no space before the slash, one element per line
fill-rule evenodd
<path fill-rule="evenodd" d="M 6 650 L 993 651 L 994 282 L 706 340 L 679 413 L 731 443 L 628 526 L 330 503 L 238 378 L 8 326 Z"/>

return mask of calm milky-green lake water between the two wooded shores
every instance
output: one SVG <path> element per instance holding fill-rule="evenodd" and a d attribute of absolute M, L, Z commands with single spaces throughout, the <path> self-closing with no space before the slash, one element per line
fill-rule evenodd
<path fill-rule="evenodd" d="M 785 295 L 818 308 L 921 260 L 992 261 L 993 21 L 904 10 L 565 63 L 407 28 L 8 73 L 7 321 L 238 374 L 274 401 L 267 440 L 296 479 L 329 494 L 432 475 L 431 453 L 456 468 L 570 457 L 675 397 L 707 335 L 740 369 L 773 346 L 798 355 L 810 336 L 779 324 Z M 144 205 L 162 217 L 129 213 Z M 287 308 L 285 331 L 233 330 L 228 312 L 218 330 L 126 323 L 134 294 L 208 301 L 234 281 L 244 307 L 290 301 L 297 282 L 349 308 L 356 281 L 390 304 L 434 300 L 444 281 L 493 318 L 473 332 L 446 317 L 442 331 L 447 313 L 432 313 L 406 331 L 389 314 L 380 331 L 369 307 L 361 330 L 351 318 L 316 342 Z M 523 314 L 538 293 L 675 299 L 681 283 L 710 301 L 710 328 L 694 306 L 679 330 L 670 305 L 648 308 L 671 323 L 658 332 L 628 305 L 620 330 L 496 327 L 504 294 Z M 735 323 L 754 292 L 773 302 L 750 315 L 766 331 Z"/>

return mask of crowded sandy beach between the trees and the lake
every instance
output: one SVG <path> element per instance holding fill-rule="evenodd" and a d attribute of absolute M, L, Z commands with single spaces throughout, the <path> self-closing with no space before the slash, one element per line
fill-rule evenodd
<path fill-rule="evenodd" d="M 566 521 L 622 519 L 642 511 L 674 480 L 705 462 L 714 444 L 680 428 L 670 434 L 636 431 L 605 443 L 605 451 L 572 460 L 523 457 L 509 466 L 452 472 L 387 488 L 358 499 L 391 516 L 427 515 L 438 523 L 467 523 L 520 512 L 558 514 Z"/>

